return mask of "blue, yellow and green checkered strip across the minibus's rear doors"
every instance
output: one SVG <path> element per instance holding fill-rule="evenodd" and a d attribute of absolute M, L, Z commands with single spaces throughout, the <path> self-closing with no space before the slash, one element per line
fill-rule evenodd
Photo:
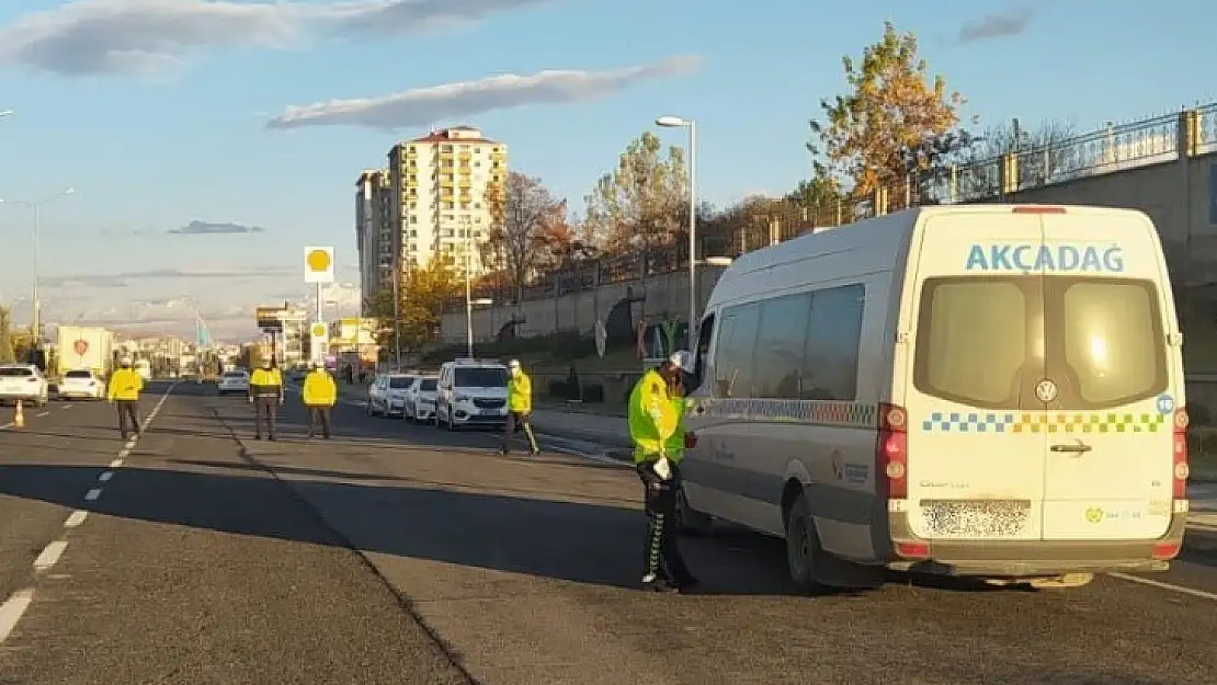
<path fill-rule="evenodd" d="M 1157 433 L 1165 414 L 941 412 L 921 422 L 927 433 Z"/>

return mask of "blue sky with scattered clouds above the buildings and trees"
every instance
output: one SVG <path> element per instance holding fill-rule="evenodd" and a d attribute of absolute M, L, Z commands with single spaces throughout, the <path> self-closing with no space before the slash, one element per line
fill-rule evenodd
<path fill-rule="evenodd" d="M 257 304 L 309 297 L 304 246 L 335 247 L 327 315 L 355 315 L 355 178 L 432 125 L 483 129 L 578 207 L 677 114 L 697 120 L 701 200 L 778 195 L 809 175 L 807 122 L 843 91 L 841 57 L 885 19 L 981 128 L 1217 101 L 1201 0 L 2 2 L 0 303 L 29 320 L 27 203 L 45 201 L 44 320 L 192 335 L 200 311 L 249 336 Z"/>

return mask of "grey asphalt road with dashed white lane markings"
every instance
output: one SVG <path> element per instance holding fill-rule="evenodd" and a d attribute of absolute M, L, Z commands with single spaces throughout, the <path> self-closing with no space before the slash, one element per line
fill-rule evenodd
<path fill-rule="evenodd" d="M 291 402 L 280 439 L 254 442 L 242 399 L 183 384 L 110 467 L 108 408 L 49 410 L 0 431 L 2 684 L 1215 680 L 1217 545 L 1151 577 L 1166 586 L 893 577 L 813 599 L 780 543 L 722 530 L 684 541 L 702 593 L 645 595 L 617 464 L 504 459 L 493 436 L 347 405 L 308 442 Z"/>

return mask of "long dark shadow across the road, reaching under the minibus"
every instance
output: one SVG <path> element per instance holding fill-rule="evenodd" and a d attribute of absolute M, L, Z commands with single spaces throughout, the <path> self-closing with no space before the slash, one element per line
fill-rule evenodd
<path fill-rule="evenodd" d="M 7 465 L 0 467 L 0 494 L 127 520 L 349 545 L 368 552 L 576 583 L 636 586 L 645 522 L 636 509 L 626 505 L 338 483 L 315 479 L 320 475 L 296 478 L 287 470 L 281 471 L 291 479 L 280 482 L 267 473 L 252 473 L 257 470 L 252 465 L 237 465 L 246 473 L 234 472 L 232 464 L 218 465 L 228 472 L 128 467 L 92 502 L 82 501 L 80 490 L 62 484 L 92 481 L 95 467 Z M 320 512 L 326 526 L 284 529 L 273 523 L 281 517 L 253 513 L 257 509 L 251 502 L 274 506 L 282 501 L 285 485 Z M 335 532 L 344 540 L 340 543 Z M 728 557 L 712 574 L 706 568 L 703 594 L 798 594 L 785 578 L 780 543 L 724 533 L 683 544 L 695 571 L 701 571 L 699 558 Z M 757 563 L 758 556 L 768 557 L 765 563 Z"/>

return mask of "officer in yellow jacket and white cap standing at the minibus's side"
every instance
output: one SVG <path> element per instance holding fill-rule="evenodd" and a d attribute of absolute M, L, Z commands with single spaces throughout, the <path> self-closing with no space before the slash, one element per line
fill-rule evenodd
<path fill-rule="evenodd" d="M 657 593 L 686 590 L 697 585 L 697 579 L 685 566 L 677 544 L 679 464 L 684 455 L 680 423 L 684 409 L 683 400 L 678 405 L 668 389 L 680 380 L 682 374 L 691 369 L 692 355 L 678 352 L 657 369 L 644 374 L 629 393 L 629 437 L 634 442 L 634 467 L 643 479 L 647 517 L 643 589 Z"/>

